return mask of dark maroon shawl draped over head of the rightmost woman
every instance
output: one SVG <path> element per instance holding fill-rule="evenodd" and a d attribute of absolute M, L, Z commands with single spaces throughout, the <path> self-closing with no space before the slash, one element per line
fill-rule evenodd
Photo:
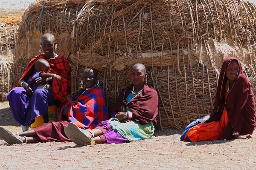
<path fill-rule="evenodd" d="M 239 63 L 238 76 L 227 96 L 227 100 L 225 100 L 224 92 L 227 82 L 225 72 L 232 60 L 236 60 Z M 220 111 L 223 109 L 227 110 L 229 122 L 227 127 L 224 128 L 220 139 L 233 138 L 233 132 L 238 132 L 240 135 L 250 134 L 256 128 L 256 113 L 254 111 L 254 97 L 251 84 L 243 73 L 241 63 L 234 57 L 227 58 L 222 64 L 214 109 L 209 121 L 217 121 Z"/>

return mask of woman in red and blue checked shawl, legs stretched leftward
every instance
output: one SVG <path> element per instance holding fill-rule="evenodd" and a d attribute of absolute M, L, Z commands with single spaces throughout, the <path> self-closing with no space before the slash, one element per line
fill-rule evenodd
<path fill-rule="evenodd" d="M 81 129 L 93 129 L 102 121 L 108 119 L 108 108 L 105 103 L 103 90 L 95 69 L 85 69 L 83 84 L 86 89 L 79 90 L 63 107 L 59 118 L 62 121 L 49 122 L 32 130 L 13 135 L 9 130 L 0 127 L 0 137 L 8 144 L 37 143 L 50 141 L 71 141 L 65 134 L 64 128 L 72 122 Z"/>

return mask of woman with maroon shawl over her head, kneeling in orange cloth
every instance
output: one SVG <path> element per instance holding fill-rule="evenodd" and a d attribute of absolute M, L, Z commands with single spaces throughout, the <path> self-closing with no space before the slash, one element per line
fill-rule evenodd
<path fill-rule="evenodd" d="M 214 109 L 205 123 L 187 131 L 183 141 L 251 138 L 256 113 L 251 84 L 237 58 L 227 58 L 221 67 Z"/>

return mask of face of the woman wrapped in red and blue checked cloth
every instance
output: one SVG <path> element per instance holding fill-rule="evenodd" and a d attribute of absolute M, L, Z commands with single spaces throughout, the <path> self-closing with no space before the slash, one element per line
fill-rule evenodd
<path fill-rule="evenodd" d="M 96 84 L 97 78 L 93 69 L 86 69 L 82 76 L 84 86 L 89 89 Z"/>

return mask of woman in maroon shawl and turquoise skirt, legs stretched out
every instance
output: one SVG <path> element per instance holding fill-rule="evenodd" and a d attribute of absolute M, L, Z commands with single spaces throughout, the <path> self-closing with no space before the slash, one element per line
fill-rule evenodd
<path fill-rule="evenodd" d="M 102 121 L 93 130 L 81 130 L 69 123 L 66 135 L 78 145 L 125 143 L 151 138 L 158 114 L 157 92 L 146 83 L 146 70 L 137 63 L 131 68 L 131 82 L 112 109 L 114 118 Z"/>

